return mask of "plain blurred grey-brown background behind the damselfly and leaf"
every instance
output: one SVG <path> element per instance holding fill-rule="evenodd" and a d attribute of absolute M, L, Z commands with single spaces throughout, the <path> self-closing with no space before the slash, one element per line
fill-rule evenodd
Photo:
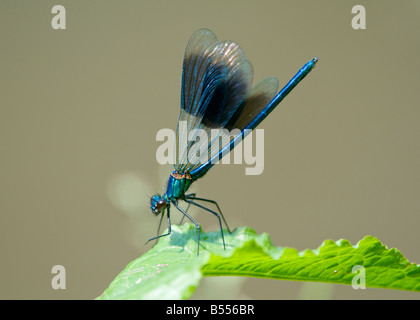
<path fill-rule="evenodd" d="M 64 5 L 66 30 L 51 9 Z M 156 133 L 175 129 L 182 59 L 199 28 L 234 40 L 255 82 L 317 68 L 260 125 L 265 170 L 215 166 L 192 190 L 231 227 L 276 246 L 378 237 L 420 262 L 418 1 L 0 2 L 0 298 L 93 299 L 146 252 L 148 196 L 171 166 Z M 192 211 L 204 230 L 208 214 Z M 174 223 L 180 215 L 173 214 Z M 51 287 L 63 265 L 66 290 Z M 418 299 L 412 292 L 206 278 L 194 298 Z"/>

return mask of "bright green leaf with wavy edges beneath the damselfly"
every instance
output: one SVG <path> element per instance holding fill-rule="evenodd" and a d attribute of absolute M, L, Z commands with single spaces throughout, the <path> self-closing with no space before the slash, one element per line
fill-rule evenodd
<path fill-rule="evenodd" d="M 247 227 L 202 233 L 197 257 L 197 230 L 172 226 L 172 234 L 131 262 L 97 299 L 187 299 L 203 276 L 247 276 L 317 281 L 420 291 L 420 267 L 397 249 L 367 236 L 352 246 L 327 240 L 315 250 L 274 247 L 267 234 Z M 360 269 L 360 267 L 363 267 Z M 354 268 L 354 269 L 353 269 Z"/>

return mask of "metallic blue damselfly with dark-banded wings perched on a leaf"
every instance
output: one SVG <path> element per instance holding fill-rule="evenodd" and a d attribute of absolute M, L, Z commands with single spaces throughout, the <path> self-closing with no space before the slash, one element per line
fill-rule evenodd
<path fill-rule="evenodd" d="M 200 29 L 192 35 L 185 50 L 182 71 L 181 111 L 176 132 L 174 171 L 169 176 L 166 193 L 163 196 L 155 195 L 150 201 L 152 212 L 162 215 L 159 227 L 166 212 L 168 232 L 147 242 L 171 234 L 170 208 L 173 205 L 195 224 L 198 231 L 198 255 L 201 228 L 188 214 L 188 208 L 184 210 L 179 206 L 179 201 L 182 200 L 188 203 L 188 207 L 194 205 L 217 217 L 223 246 L 226 248 L 221 219 L 229 232 L 230 229 L 217 202 L 186 192 L 194 181 L 203 177 L 239 140 L 255 129 L 306 77 L 317 61 L 318 58 L 313 58 L 305 64 L 278 93 L 278 81 L 274 77 L 266 78 L 251 88 L 252 66 L 235 42 L 219 41 L 207 29 Z M 181 124 L 185 130 L 181 130 Z M 189 141 L 186 137 L 195 129 L 204 130 L 211 138 Z M 212 135 L 212 129 L 223 130 Z M 231 135 L 233 129 L 239 129 L 236 130 L 236 136 Z M 212 148 L 214 143 L 219 148 Z M 206 148 L 201 148 L 203 146 Z M 195 155 L 194 161 L 191 160 L 191 153 Z M 197 202 L 212 203 L 218 212 Z"/>

